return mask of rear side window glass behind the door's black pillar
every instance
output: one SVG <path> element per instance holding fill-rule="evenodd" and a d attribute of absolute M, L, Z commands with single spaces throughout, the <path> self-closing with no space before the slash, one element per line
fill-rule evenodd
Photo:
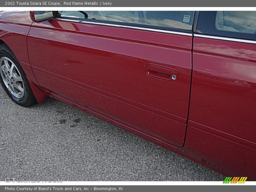
<path fill-rule="evenodd" d="M 196 32 L 256 40 L 256 11 L 201 11 Z"/>

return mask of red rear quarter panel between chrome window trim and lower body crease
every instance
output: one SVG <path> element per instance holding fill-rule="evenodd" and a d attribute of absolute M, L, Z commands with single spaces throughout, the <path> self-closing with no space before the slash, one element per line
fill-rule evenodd
<path fill-rule="evenodd" d="M 189 121 L 256 148 L 254 44 L 194 38 Z"/>

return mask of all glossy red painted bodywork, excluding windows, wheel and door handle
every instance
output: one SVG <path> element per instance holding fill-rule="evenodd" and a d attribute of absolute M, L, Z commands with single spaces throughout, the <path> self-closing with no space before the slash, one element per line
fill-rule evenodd
<path fill-rule="evenodd" d="M 33 23 L 27 53 L 29 13 L 0 17 L 0 39 L 32 87 L 227 176 L 256 180 L 254 44 L 194 37 L 192 57 L 189 36 L 50 20 Z M 161 77 L 176 69 L 179 79 L 148 76 L 149 63 Z"/>

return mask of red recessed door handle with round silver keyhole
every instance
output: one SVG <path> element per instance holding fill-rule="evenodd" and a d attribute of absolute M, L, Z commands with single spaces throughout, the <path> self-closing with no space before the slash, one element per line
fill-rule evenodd
<path fill-rule="evenodd" d="M 158 79 L 177 82 L 178 70 L 171 67 L 148 63 L 147 75 Z"/>

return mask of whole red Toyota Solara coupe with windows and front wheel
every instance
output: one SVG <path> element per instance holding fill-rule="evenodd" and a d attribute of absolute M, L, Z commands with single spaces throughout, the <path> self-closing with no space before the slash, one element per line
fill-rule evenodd
<path fill-rule="evenodd" d="M 0 12 L 1 84 L 256 180 L 256 11 Z M 153 157 L 154 158 L 154 157 Z"/>

